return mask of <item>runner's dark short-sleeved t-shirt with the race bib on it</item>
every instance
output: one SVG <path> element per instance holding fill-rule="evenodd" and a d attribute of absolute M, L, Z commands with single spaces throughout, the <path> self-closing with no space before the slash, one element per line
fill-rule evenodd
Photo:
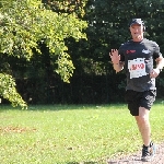
<path fill-rule="evenodd" d="M 118 50 L 120 61 L 125 61 L 127 74 L 126 90 L 143 92 L 156 90 L 155 79 L 150 78 L 154 59 L 162 56 L 155 42 L 144 38 L 142 42 L 129 40 Z"/>

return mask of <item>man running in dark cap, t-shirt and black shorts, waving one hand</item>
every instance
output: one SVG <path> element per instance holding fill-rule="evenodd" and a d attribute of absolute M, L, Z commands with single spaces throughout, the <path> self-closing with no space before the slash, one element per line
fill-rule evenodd
<path fill-rule="evenodd" d="M 125 69 L 127 86 L 125 99 L 130 114 L 134 116 L 143 140 L 141 160 L 151 161 L 155 144 L 151 141 L 149 114 L 156 96 L 155 78 L 163 69 L 163 56 L 159 45 L 144 38 L 144 22 L 133 19 L 130 23 L 132 39 L 109 52 L 116 72 Z M 156 62 L 156 67 L 153 68 Z"/>

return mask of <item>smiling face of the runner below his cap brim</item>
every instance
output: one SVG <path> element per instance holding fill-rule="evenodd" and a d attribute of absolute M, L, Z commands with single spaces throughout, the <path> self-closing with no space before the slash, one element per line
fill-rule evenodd
<path fill-rule="evenodd" d="M 143 38 L 143 25 L 140 24 L 132 24 L 130 26 L 131 36 L 133 39 L 141 39 Z"/>

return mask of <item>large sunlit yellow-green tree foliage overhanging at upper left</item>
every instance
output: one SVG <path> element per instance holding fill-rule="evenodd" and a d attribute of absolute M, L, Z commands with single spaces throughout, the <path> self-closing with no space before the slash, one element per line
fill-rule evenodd
<path fill-rule="evenodd" d="M 67 52 L 65 39 L 73 37 L 78 42 L 80 38 L 86 38 L 86 35 L 82 33 L 87 26 L 86 22 L 78 19 L 74 12 L 70 14 L 52 12 L 38 0 L 10 0 L 8 2 L 1 0 L 0 7 L 0 54 L 30 61 L 34 51 L 42 54 L 39 44 L 45 44 L 51 58 L 56 57 L 52 61 L 57 65 L 55 71 L 69 83 L 74 66 Z M 5 92 L 9 93 L 8 87 L 8 84 L 4 85 Z M 11 96 L 4 96 L 1 90 L 0 94 L 10 102 L 14 102 Z M 21 97 L 17 96 L 17 104 L 24 105 L 23 99 L 22 104 L 19 103 L 20 99 Z"/>

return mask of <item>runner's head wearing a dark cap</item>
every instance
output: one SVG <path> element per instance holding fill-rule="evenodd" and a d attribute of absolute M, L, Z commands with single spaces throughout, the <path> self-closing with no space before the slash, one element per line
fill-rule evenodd
<path fill-rule="evenodd" d="M 143 39 L 144 31 L 144 22 L 141 19 L 132 19 L 130 22 L 130 32 L 134 42 L 140 42 Z"/>

